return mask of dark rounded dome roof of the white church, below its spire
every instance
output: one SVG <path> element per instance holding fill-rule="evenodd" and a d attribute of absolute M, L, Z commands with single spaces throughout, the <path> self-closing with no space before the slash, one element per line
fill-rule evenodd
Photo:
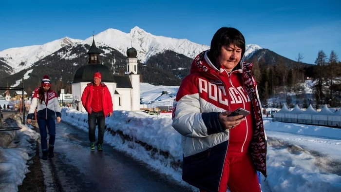
<path fill-rule="evenodd" d="M 96 72 L 101 73 L 102 82 L 115 82 L 115 78 L 107 66 L 102 64 L 87 64 L 77 69 L 72 83 L 92 82 L 94 81 L 94 74 Z"/>

